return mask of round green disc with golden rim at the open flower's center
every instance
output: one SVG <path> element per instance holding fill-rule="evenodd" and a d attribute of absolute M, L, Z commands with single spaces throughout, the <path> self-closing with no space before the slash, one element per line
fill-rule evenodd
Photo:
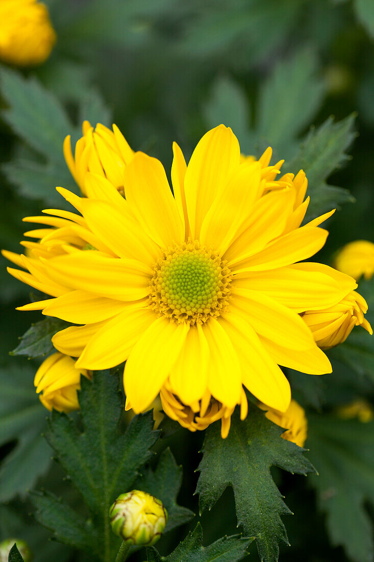
<path fill-rule="evenodd" d="M 225 309 L 230 281 L 226 262 L 216 252 L 198 241 L 186 242 L 158 260 L 150 305 L 177 323 L 202 324 Z"/>

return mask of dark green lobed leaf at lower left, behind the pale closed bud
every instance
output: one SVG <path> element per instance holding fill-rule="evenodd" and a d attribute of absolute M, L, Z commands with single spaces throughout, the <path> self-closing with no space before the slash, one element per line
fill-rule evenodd
<path fill-rule="evenodd" d="M 92 382 L 83 378 L 79 394 L 83 431 L 67 415 L 54 411 L 46 436 L 90 512 L 90 535 L 95 537 L 90 551 L 104 560 L 114 559 L 119 547 L 110 529 L 109 508 L 120 493 L 131 490 L 158 436 L 152 429 L 152 412 L 135 416 L 125 434 L 120 432 L 122 405 L 117 387 L 118 378 L 109 371 L 95 371 Z M 75 524 L 80 518 L 70 507 L 57 505 L 51 496 L 33 501 L 38 521 L 56 538 L 87 550 L 88 524 Z"/>

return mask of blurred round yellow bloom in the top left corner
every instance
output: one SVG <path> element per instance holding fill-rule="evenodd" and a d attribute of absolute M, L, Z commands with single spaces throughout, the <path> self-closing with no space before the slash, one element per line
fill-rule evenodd
<path fill-rule="evenodd" d="M 39 65 L 55 42 L 47 6 L 37 0 L 1 0 L 1 60 L 17 66 Z"/>

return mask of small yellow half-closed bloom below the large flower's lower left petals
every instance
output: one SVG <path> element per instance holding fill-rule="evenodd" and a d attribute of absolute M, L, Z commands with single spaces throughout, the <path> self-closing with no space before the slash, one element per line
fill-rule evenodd
<path fill-rule="evenodd" d="M 90 378 L 85 369 L 75 367 L 74 359 L 63 353 L 53 353 L 44 359 L 35 374 L 34 385 L 40 402 L 49 411 L 79 410 L 77 390 L 80 389 L 81 375 Z"/>

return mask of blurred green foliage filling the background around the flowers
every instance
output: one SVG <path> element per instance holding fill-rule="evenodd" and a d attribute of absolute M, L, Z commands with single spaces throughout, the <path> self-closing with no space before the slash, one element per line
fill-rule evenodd
<path fill-rule="evenodd" d="M 329 220 L 330 237 L 319 256 L 322 261 L 331 263 L 346 242 L 373 240 L 372 0 L 45 3 L 58 35 L 51 57 L 35 69 L 21 72 L 3 66 L 0 71 L 3 248 L 20 250 L 22 216 L 65 205 L 54 190 L 56 185 L 76 189 L 63 161 L 62 141 L 66 134 L 72 135 L 73 142 L 79 138 L 83 119 L 107 125 L 113 120 L 134 149 L 161 158 L 167 170 L 172 140 L 189 155 L 207 128 L 222 121 L 238 135 L 243 152 L 258 156 L 271 145 L 275 158 L 285 158 L 285 170 L 305 169 L 311 217 L 333 206 L 339 208 Z M 19 536 L 30 541 L 35 562 L 84 562 L 85 555 L 47 542 L 51 533 L 28 516 L 31 507 L 26 491 L 30 488 L 43 486 L 55 496 L 69 497 L 78 512 L 81 500 L 63 482 L 56 463 L 51 464 L 51 448 L 40 437 L 47 411 L 33 387 L 38 363 L 8 356 L 17 338 L 40 316 L 14 310 L 28 302 L 29 291 L 6 273 L 5 266 L 2 260 L 0 500 L 6 503 L 0 506 L 0 539 Z M 360 291 L 374 306 L 373 283 L 362 283 Z M 287 504 L 297 514 L 284 518 L 291 548 L 280 546 L 282 562 L 373 560 L 372 423 L 337 421 L 333 415 L 336 405 L 352 397 L 365 396 L 373 402 L 372 340 L 357 328 L 343 346 L 331 352 L 331 358 L 334 375 L 302 378 L 289 373 L 300 402 L 309 411 L 330 415 L 325 423 L 314 413 L 310 423 L 309 458 L 320 477 L 308 477 L 305 482 L 305 478 L 272 470 Z M 175 430 L 165 423 L 161 445 L 156 445 L 158 452 L 170 446 L 177 463 L 183 464 L 178 504 L 195 513 L 194 470 L 201 459 L 197 451 L 202 440 L 201 434 Z M 166 457 L 161 457 L 159 465 L 162 458 Z M 159 465 L 147 468 L 144 475 L 150 490 L 163 474 Z M 165 466 L 170 470 L 171 463 Z M 176 465 L 172 474 L 168 478 L 174 482 L 176 496 L 180 484 Z M 47 509 L 40 497 L 39 509 Z M 175 510 L 181 509 L 176 497 L 171 502 Z M 178 513 L 182 521 L 183 513 Z M 204 544 L 211 545 L 206 549 L 209 554 L 215 541 L 236 532 L 231 491 L 226 490 L 200 520 Z M 196 518 L 190 528 L 195 527 Z M 174 550 L 187 531 L 182 527 L 167 533 L 157 546 L 161 555 Z M 186 552 L 193 552 L 191 560 L 203 559 L 198 558 L 201 540 L 197 529 L 183 543 Z M 243 544 L 235 537 L 226 540 L 226 547 L 237 549 L 238 560 Z M 249 560 L 257 559 L 254 544 L 249 553 Z M 235 560 L 230 555 L 222 560 Z M 157 556 L 150 551 L 148 559 L 158 560 Z M 173 552 L 166 560 L 179 560 L 177 556 L 178 551 Z M 142 562 L 140 555 L 135 554 L 136 559 Z"/>

